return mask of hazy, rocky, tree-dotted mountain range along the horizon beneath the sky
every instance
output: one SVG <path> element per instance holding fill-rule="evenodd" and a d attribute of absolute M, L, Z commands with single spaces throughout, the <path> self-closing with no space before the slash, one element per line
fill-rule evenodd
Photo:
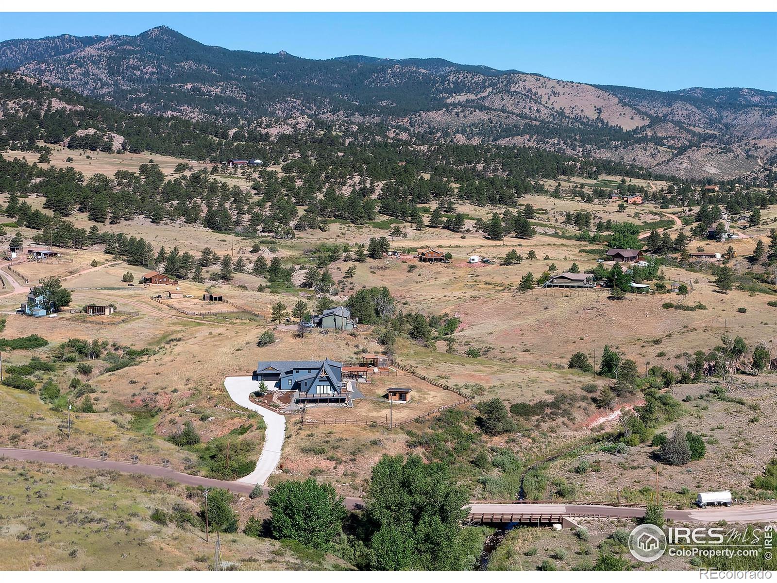
<path fill-rule="evenodd" d="M 531 145 L 727 179 L 777 157 L 777 94 L 591 86 L 442 59 L 327 61 L 138 36 L 0 43 L 0 68 L 124 110 L 251 127 L 257 118 L 386 124 L 455 143 Z M 262 123 L 265 123 L 264 121 Z"/>

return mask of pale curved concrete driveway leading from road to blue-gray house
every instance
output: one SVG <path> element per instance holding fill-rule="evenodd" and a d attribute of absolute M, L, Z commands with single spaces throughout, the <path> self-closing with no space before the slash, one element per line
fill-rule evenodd
<path fill-rule="evenodd" d="M 256 411 L 264 417 L 264 423 L 267 424 L 262 454 L 259 456 L 259 461 L 256 462 L 256 470 L 253 470 L 248 476 L 236 480 L 243 484 L 264 484 L 280 462 L 280 449 L 284 446 L 286 435 L 286 419 L 280 413 L 251 403 L 248 397 L 259 388 L 259 383 L 250 376 L 228 376 L 224 379 L 224 386 L 235 403 Z"/>

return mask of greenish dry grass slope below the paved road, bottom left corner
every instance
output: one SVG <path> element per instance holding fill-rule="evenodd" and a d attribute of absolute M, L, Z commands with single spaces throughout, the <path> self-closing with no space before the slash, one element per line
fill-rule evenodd
<path fill-rule="evenodd" d="M 197 490 L 103 470 L 0 461 L 3 571 L 207 571 L 213 540 L 192 525 L 152 522 L 152 513 L 196 513 Z M 266 518 L 260 500 L 235 497 L 241 525 Z M 221 556 L 240 570 L 348 568 L 342 560 L 242 532 L 221 536 Z"/>

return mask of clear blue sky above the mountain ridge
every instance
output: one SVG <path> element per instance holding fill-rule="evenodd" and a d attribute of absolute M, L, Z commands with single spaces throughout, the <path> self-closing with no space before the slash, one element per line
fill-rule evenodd
<path fill-rule="evenodd" d="M 777 91 L 773 12 L 5 13 L 0 40 L 160 24 L 204 44 L 306 58 L 440 57 L 604 85 Z"/>

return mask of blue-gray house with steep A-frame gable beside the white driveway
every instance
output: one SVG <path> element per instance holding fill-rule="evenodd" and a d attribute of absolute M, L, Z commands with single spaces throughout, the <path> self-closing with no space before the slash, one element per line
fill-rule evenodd
<path fill-rule="evenodd" d="M 343 365 L 323 361 L 259 361 L 254 379 L 268 389 L 297 391 L 298 403 L 344 403 Z"/>

